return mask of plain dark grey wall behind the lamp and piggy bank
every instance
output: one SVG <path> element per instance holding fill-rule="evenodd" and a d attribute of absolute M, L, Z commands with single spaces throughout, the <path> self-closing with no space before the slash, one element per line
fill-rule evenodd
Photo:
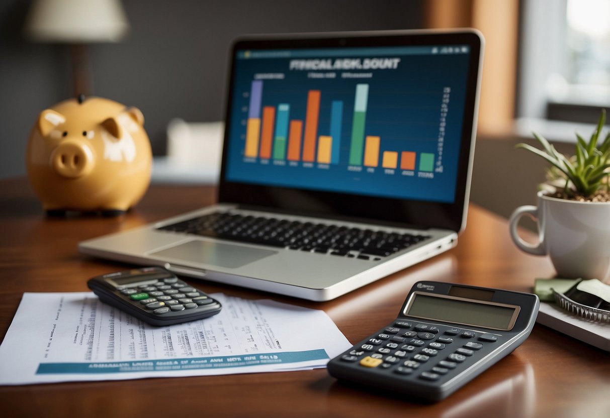
<path fill-rule="evenodd" d="M 24 40 L 30 1 L 0 2 L 0 179 L 24 175 L 38 113 L 72 96 L 66 46 Z M 93 93 L 144 113 L 153 152 L 165 153 L 174 117 L 223 117 L 228 47 L 237 35 L 415 29 L 423 0 L 123 0 L 131 32 L 90 48 Z"/>

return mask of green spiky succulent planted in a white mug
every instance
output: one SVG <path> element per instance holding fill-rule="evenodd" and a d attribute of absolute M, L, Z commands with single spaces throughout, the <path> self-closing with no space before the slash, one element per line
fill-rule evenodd
<path fill-rule="evenodd" d="M 587 142 L 576 135 L 575 154 L 562 155 L 534 133 L 541 149 L 518 144 L 551 164 L 540 186 L 538 204 L 517 208 L 511 216 L 511 237 L 517 247 L 534 255 L 549 255 L 558 276 L 610 279 L 610 133 L 602 130 L 606 111 Z M 539 243 L 517 233 L 519 219 L 537 220 Z"/>

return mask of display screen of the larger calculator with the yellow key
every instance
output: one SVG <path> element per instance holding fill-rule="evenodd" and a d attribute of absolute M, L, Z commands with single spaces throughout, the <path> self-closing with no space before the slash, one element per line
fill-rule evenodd
<path fill-rule="evenodd" d="M 519 310 L 519 306 L 504 303 L 414 292 L 404 314 L 452 324 L 508 331 L 515 324 Z"/>

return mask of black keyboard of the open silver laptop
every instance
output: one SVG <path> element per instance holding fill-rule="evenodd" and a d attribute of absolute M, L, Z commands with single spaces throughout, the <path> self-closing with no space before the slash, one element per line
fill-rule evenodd
<path fill-rule="evenodd" d="M 381 260 L 381 257 L 387 257 L 430 238 L 427 235 L 228 212 L 210 213 L 157 229 L 363 260 Z"/>

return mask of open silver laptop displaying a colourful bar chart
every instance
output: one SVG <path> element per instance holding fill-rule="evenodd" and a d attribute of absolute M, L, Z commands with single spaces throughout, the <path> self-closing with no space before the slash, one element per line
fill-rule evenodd
<path fill-rule="evenodd" d="M 451 249 L 482 43 L 475 30 L 239 38 L 218 204 L 79 250 L 323 301 Z"/>

